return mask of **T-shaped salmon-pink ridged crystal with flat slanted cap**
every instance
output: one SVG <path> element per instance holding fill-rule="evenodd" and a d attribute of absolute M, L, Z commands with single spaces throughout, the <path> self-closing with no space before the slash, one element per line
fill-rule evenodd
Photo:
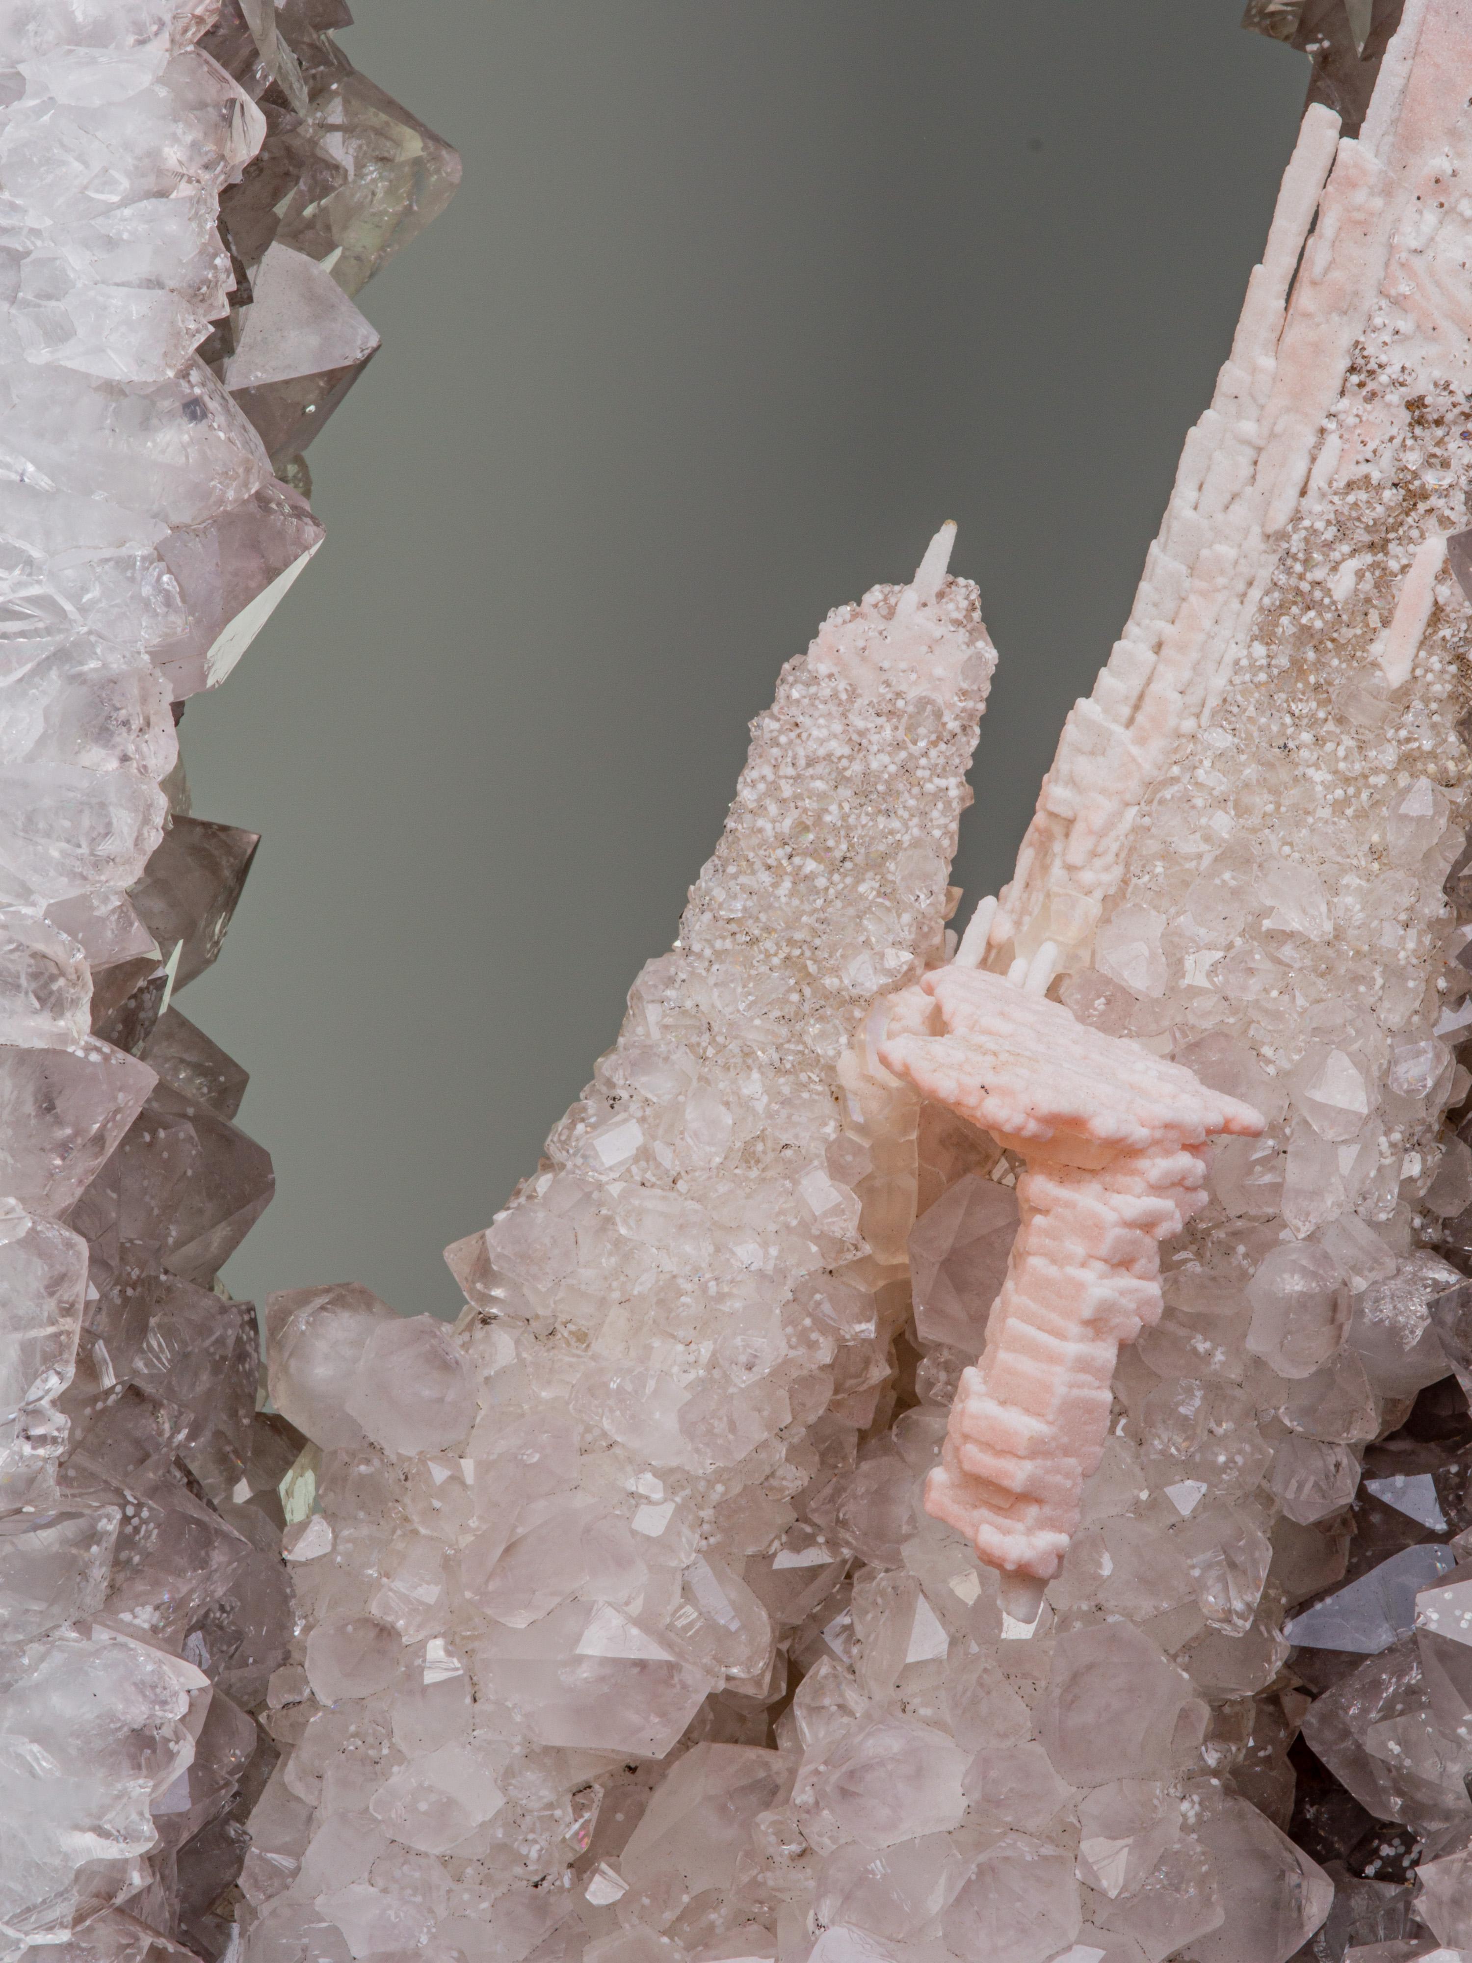
<path fill-rule="evenodd" d="M 879 1060 L 1026 1160 L 985 1353 L 962 1376 L 924 1506 L 1003 1576 L 1030 1576 L 1015 1600 L 1034 1616 L 1103 1453 L 1119 1345 L 1160 1315 L 1160 1243 L 1205 1197 L 1207 1141 L 1256 1137 L 1262 1119 L 975 968 L 897 995 Z"/>

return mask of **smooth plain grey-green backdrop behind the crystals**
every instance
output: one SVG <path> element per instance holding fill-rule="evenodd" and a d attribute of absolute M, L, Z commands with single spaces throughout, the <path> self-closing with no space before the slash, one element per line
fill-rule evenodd
<path fill-rule="evenodd" d="M 1227 353 L 1305 84 L 1240 0 L 355 0 L 459 145 L 312 448 L 328 544 L 184 720 L 265 832 L 181 1009 L 251 1072 L 236 1294 L 455 1313 L 675 932 L 746 722 L 942 518 L 1007 877 Z M 966 903 L 964 903 L 966 905 Z"/>

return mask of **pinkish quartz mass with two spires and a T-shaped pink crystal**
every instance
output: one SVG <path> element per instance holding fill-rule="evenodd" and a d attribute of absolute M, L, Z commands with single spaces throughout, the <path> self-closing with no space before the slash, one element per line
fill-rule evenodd
<path fill-rule="evenodd" d="M 1472 1955 L 1472 4 L 1248 24 L 1311 104 L 1011 885 L 942 534 L 453 1329 L 271 1300 L 253 1963 Z"/>

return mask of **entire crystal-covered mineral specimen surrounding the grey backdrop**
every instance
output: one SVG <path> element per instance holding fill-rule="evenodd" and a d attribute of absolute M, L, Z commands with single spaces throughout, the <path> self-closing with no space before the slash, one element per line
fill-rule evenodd
<path fill-rule="evenodd" d="M 1299 143 L 1013 881 L 942 526 L 461 1317 L 263 1358 L 175 726 L 457 159 L 342 0 L 0 10 L 6 1955 L 1472 1953 L 1472 6 L 1246 14 Z"/>

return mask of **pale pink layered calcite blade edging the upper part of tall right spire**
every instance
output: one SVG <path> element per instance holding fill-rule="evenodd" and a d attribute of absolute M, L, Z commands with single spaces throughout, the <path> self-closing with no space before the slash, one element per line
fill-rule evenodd
<path fill-rule="evenodd" d="M 1297 18 L 1303 8 L 1268 0 L 1262 12 Z M 1376 8 L 1388 26 L 1399 14 Z M 1339 0 L 1307 16 L 1317 41 L 1309 33 L 1301 45 L 1317 51 L 1342 33 Z M 1354 561 L 1348 585 L 1329 597 L 1337 614 L 1350 614 L 1354 597 L 1372 599 L 1364 652 L 1392 687 L 1409 677 L 1433 622 L 1435 534 L 1466 524 L 1460 510 L 1433 508 L 1443 485 L 1431 479 L 1392 518 L 1390 487 L 1401 485 L 1388 463 L 1409 448 L 1419 404 L 1419 471 L 1472 375 L 1462 175 L 1470 39 L 1460 0 L 1411 0 L 1376 49 L 1384 65 L 1364 126 L 1342 130 L 1321 96 L 1307 110 L 1231 355 L 1185 438 L 1125 630 L 1064 724 L 1001 893 L 993 948 L 1013 940 L 1030 954 L 1050 938 L 1064 968 L 1087 962 L 1111 895 L 1129 879 L 1152 791 L 1172 764 L 1180 769 L 1182 748 L 1209 744 L 1242 669 L 1266 652 L 1260 612 L 1305 520 L 1317 520 L 1327 546 L 1378 504 L 1368 536 L 1339 559 Z"/>

